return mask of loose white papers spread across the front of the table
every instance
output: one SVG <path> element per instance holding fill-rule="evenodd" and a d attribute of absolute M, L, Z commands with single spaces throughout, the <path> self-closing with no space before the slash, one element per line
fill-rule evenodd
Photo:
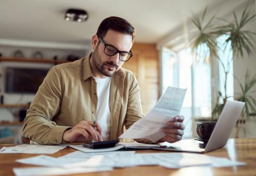
<path fill-rule="evenodd" d="M 179 169 L 189 166 L 227 167 L 246 165 L 246 163 L 231 161 L 227 158 L 213 157 L 204 154 L 135 154 L 134 151 L 112 151 L 107 153 L 83 153 L 81 151 L 75 151 L 74 153 L 58 158 L 39 155 L 18 159 L 17 162 L 43 166 L 13 169 L 14 173 L 18 176 L 38 175 L 38 173 L 42 175 L 57 175 L 100 172 L 113 170 L 114 167 L 132 167 L 139 165 L 160 165 L 169 169 Z"/>

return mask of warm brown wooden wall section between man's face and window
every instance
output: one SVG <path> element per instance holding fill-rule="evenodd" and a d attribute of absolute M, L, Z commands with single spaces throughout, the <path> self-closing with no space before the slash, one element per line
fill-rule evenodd
<path fill-rule="evenodd" d="M 134 56 L 123 67 L 136 76 L 143 113 L 147 114 L 159 98 L 158 51 L 155 44 L 134 43 L 132 52 Z"/>

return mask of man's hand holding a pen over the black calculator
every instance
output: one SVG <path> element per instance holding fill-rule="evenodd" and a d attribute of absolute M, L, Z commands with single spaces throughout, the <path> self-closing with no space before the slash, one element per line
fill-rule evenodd
<path fill-rule="evenodd" d="M 101 138 L 102 129 L 98 123 L 94 124 L 90 121 L 81 121 L 72 129 L 63 133 L 62 139 L 66 142 L 87 142 L 92 139 L 95 141 L 103 141 Z"/>

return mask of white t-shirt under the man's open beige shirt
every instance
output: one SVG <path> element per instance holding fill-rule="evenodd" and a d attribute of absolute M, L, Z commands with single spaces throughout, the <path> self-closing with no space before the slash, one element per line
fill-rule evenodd
<path fill-rule="evenodd" d="M 97 83 L 97 109 L 96 120 L 102 128 L 102 139 L 110 139 L 110 106 L 109 94 L 111 77 L 97 78 L 94 77 Z"/>

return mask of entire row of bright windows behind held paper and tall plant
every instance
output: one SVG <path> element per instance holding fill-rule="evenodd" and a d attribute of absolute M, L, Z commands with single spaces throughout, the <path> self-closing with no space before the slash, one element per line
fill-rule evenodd
<path fill-rule="evenodd" d="M 225 77 L 227 73 L 227 97 L 234 96 L 233 78 L 233 52 L 231 44 L 223 45 L 228 35 L 217 38 L 219 61 L 210 61 L 209 50 L 205 44 L 199 47 L 204 54 L 198 53 L 197 57 L 191 55 L 191 49 L 174 53 L 170 49 L 162 50 L 162 92 L 167 86 L 187 88 L 180 114 L 185 116 L 184 138 L 192 137 L 192 117 L 202 118 L 211 116 L 212 103 L 217 100 L 212 87 L 220 90 L 225 96 Z M 218 68 L 213 74 L 213 68 Z M 211 85 L 214 79 L 218 85 Z M 214 97 L 215 96 L 215 97 Z M 194 129 L 195 130 L 195 129 Z"/>

